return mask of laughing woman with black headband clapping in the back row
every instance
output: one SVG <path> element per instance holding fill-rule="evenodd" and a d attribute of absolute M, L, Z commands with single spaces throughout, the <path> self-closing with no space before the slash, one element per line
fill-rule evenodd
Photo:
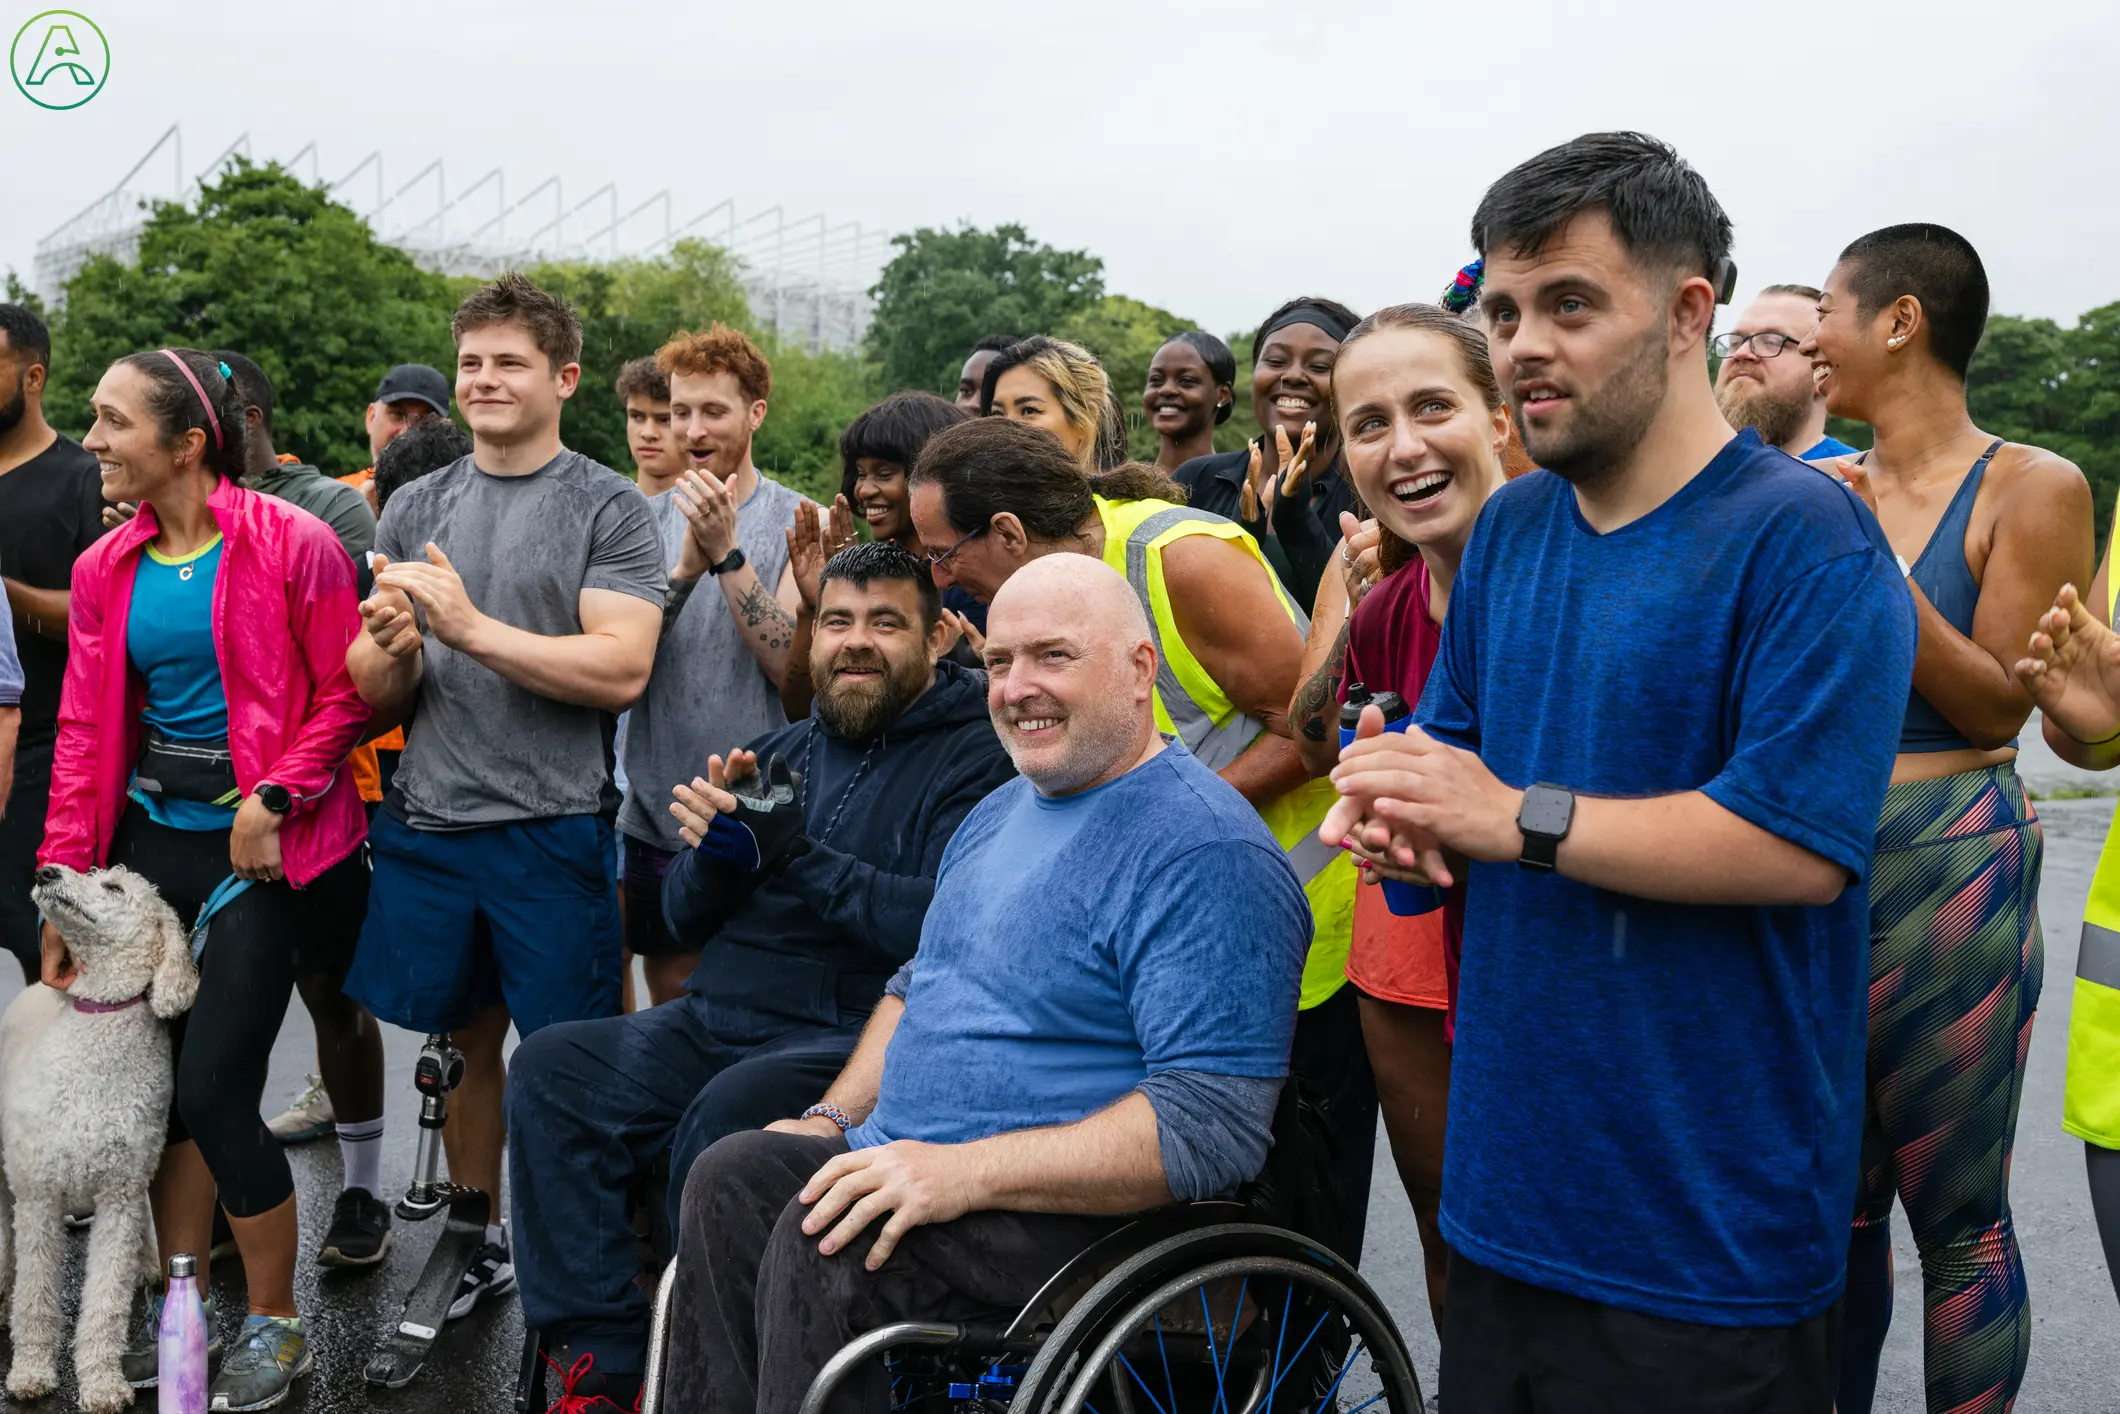
<path fill-rule="evenodd" d="M 1340 341 L 1357 322 L 1346 305 L 1314 295 L 1274 310 L 1251 339 L 1259 441 L 1194 458 L 1172 475 L 1191 507 L 1227 515 L 1259 541 L 1297 604 L 1317 598 L 1340 543 L 1340 511 L 1355 507 L 1327 399 Z"/>

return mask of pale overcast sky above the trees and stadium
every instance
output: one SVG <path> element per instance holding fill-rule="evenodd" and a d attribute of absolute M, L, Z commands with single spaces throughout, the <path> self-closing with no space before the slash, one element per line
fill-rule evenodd
<path fill-rule="evenodd" d="M 681 218 L 731 197 L 1020 220 L 1230 331 L 1300 293 L 1433 299 L 1486 182 L 1641 127 L 1730 210 L 1741 299 L 1942 220 L 1997 310 L 2120 301 L 2112 0 L 72 2 L 108 36 L 104 91 L 0 91 L 0 265 L 23 278 L 182 123 L 193 167 L 248 129 L 259 155 L 314 140 L 326 178 L 382 148 L 392 184 L 443 157 L 452 189 L 492 165 L 513 193 L 670 187 Z M 40 8 L 8 0 L 0 38 Z"/>

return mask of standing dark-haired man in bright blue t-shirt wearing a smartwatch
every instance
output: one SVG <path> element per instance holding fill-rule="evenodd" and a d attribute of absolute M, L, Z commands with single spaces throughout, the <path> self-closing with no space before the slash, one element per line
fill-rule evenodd
<path fill-rule="evenodd" d="M 1541 153 L 1473 244 L 1545 471 L 1488 500 L 1418 727 L 1370 712 L 1321 829 L 1467 876 L 1442 1397 L 1823 1412 L 1914 606 L 1855 496 L 1717 409 L 1730 220 L 1677 153 Z"/>

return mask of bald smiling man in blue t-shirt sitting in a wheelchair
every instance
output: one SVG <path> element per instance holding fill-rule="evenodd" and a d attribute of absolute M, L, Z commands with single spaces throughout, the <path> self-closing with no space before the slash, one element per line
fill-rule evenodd
<path fill-rule="evenodd" d="M 1022 778 L 950 839 L 825 1100 L 693 1164 L 672 1408 L 793 1414 L 856 1333 L 1013 1310 L 1121 1215 L 1266 1162 L 1310 948 L 1295 871 L 1155 731 L 1155 647 L 1111 568 L 1018 570 L 984 657 Z M 876 1365 L 833 1408 L 884 1403 Z"/>

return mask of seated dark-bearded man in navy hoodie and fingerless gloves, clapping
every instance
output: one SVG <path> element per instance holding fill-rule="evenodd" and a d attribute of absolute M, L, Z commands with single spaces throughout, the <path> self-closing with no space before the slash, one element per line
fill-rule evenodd
<path fill-rule="evenodd" d="M 676 1001 L 549 1026 L 509 1075 L 509 1174 L 524 1321 L 577 1397 L 632 1408 L 647 1357 L 628 1194 L 670 1151 L 672 1204 L 695 1153 L 799 1113 L 854 1049 L 914 954 L 943 846 L 1013 767 L 986 681 L 948 642 L 926 566 L 878 541 L 827 562 L 808 721 L 770 731 L 670 814 L 670 931 L 700 950 Z M 778 803 L 767 803 L 784 786 Z M 738 795 L 742 793 L 742 795 Z M 602 1406 L 591 1406 L 602 1408 Z"/>

